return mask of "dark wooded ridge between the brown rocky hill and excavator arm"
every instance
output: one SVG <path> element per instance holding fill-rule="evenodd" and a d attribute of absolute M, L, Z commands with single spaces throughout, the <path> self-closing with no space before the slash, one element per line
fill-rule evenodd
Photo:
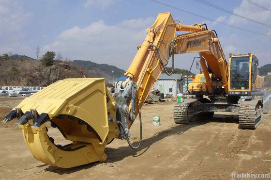
<path fill-rule="evenodd" d="M 100 78 L 104 77 L 108 82 L 112 81 L 112 71 L 114 71 L 114 79 L 124 76 L 125 71 L 114 66 L 107 64 L 97 64 L 91 61 L 74 60 L 72 62 L 80 69 L 84 69 L 84 72 L 88 72 L 90 77 Z"/>

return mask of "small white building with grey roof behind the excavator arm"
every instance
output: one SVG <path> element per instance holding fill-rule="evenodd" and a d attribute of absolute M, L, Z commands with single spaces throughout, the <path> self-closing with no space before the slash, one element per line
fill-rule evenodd
<path fill-rule="evenodd" d="M 183 80 L 182 74 L 161 74 L 154 84 L 152 91 L 158 89 L 160 93 L 172 94 L 173 97 L 177 96 L 178 93 L 183 92 Z"/>

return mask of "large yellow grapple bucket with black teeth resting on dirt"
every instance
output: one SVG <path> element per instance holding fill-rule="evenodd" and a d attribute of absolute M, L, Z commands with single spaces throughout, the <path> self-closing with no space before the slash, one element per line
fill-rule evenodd
<path fill-rule="evenodd" d="M 31 153 L 46 164 L 73 167 L 105 161 L 108 96 L 104 78 L 60 80 L 25 98 L 3 121 L 17 116 Z M 56 146 L 47 135 L 46 121 L 73 143 Z"/>

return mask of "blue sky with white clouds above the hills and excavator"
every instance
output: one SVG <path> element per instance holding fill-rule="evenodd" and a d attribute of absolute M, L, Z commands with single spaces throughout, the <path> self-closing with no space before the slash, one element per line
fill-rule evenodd
<path fill-rule="evenodd" d="M 197 0 L 158 0 L 209 19 L 267 35 L 249 33 L 163 6 L 151 0 L 0 0 L 0 54 L 40 57 L 46 51 L 71 60 L 90 60 L 127 70 L 136 47 L 158 13 L 171 12 L 182 24 L 207 23 L 218 33 L 228 54 L 254 53 L 259 66 L 271 63 L 271 1 L 206 0 L 235 14 L 270 24 L 248 21 Z M 268 36 L 269 35 L 269 36 Z M 196 53 L 175 56 L 175 67 L 189 69 Z M 170 65 L 170 63 L 169 63 Z M 197 73 L 196 65 L 192 71 Z"/>

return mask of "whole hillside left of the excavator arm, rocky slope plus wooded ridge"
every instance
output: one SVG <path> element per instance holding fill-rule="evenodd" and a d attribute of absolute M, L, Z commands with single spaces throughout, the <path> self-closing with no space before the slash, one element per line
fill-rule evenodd
<path fill-rule="evenodd" d="M 79 69 L 87 78 L 101 77 L 105 82 L 112 82 L 112 70 L 116 78 L 124 74 L 124 70 L 113 65 L 76 60 L 54 61 L 54 65 L 45 66 L 33 58 L 15 54 L 0 59 L 0 86 L 47 86 L 65 78 L 82 78 Z"/>

